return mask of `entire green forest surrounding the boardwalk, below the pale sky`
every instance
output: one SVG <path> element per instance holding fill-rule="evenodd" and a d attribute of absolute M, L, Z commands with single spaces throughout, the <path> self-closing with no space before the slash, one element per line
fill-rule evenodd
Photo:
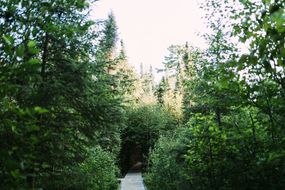
<path fill-rule="evenodd" d="M 138 161 L 148 190 L 284 189 L 284 1 L 205 0 L 207 48 L 139 73 L 95 1 L 0 0 L 0 189 L 117 190 Z"/>

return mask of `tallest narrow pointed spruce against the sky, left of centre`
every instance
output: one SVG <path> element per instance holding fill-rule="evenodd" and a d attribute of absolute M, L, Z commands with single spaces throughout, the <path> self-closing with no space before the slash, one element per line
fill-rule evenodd
<path fill-rule="evenodd" d="M 108 94 L 121 99 L 120 95 L 124 93 L 125 89 L 121 88 L 121 74 L 119 70 L 123 67 L 122 65 L 126 62 L 125 55 L 117 57 L 116 44 L 118 38 L 118 26 L 115 19 L 115 15 L 111 10 L 108 13 L 108 18 L 104 22 L 104 29 L 102 30 L 102 37 L 100 39 L 99 47 L 101 52 L 105 53 L 102 55 L 100 61 L 105 64 L 103 71 L 107 72 L 102 78 L 101 82 L 107 86 Z M 124 51 L 123 42 L 121 41 L 122 51 Z M 124 118 L 124 110 L 120 107 L 114 108 L 120 116 Z M 113 130 L 99 132 L 99 144 L 102 148 L 108 149 L 110 152 L 115 153 L 118 156 L 121 150 L 121 130 L 124 128 L 124 124 L 114 125 Z"/>

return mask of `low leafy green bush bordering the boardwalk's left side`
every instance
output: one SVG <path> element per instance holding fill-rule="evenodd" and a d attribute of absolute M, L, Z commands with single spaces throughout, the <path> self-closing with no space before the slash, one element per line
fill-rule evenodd
<path fill-rule="evenodd" d="M 115 165 L 113 153 L 100 147 L 86 148 L 86 159 L 82 163 L 74 163 L 73 167 L 63 167 L 58 172 L 49 175 L 40 173 L 42 189 L 119 189 L 117 180 L 120 171 Z"/>

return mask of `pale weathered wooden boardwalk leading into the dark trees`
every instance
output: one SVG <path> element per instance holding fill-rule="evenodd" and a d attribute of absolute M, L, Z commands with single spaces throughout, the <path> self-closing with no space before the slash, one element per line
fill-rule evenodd
<path fill-rule="evenodd" d="M 121 178 L 120 190 L 146 190 L 141 173 L 141 162 L 131 167 L 125 176 Z"/>

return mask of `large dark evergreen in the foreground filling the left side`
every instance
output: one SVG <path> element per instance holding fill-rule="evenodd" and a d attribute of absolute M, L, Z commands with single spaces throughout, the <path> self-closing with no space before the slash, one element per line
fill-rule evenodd
<path fill-rule="evenodd" d="M 113 130 L 121 119 L 114 109 L 120 101 L 98 80 L 103 65 L 90 60 L 98 54 L 94 22 L 83 13 L 89 4 L 1 6 L 0 188 L 60 189 L 67 177 L 90 180 L 82 171 L 69 176 L 70 168 L 84 161 L 98 130 Z"/>

